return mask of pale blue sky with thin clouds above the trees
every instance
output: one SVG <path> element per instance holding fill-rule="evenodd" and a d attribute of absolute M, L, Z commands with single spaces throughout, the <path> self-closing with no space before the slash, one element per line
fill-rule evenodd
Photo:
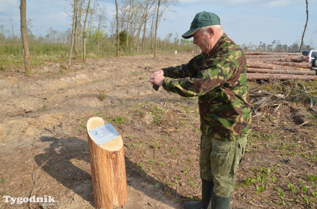
<path fill-rule="evenodd" d="M 99 0 L 107 7 L 111 20 L 115 10 L 114 0 Z M 120 0 L 118 0 L 120 2 Z M 194 16 L 200 11 L 216 13 L 224 28 L 224 32 L 237 44 L 258 45 L 270 44 L 280 40 L 281 44 L 292 45 L 301 42 L 306 23 L 306 2 L 304 0 L 179 0 L 178 6 L 171 7 L 177 14 L 166 11 L 161 21 L 158 35 L 162 39 L 173 33 L 181 38 L 186 32 Z M 15 34 L 20 29 L 19 0 L 0 0 L 0 25 L 12 33 L 10 15 Z M 66 30 L 71 25 L 65 8 L 65 0 L 31 0 L 27 1 L 27 18 L 33 19 L 33 34 L 45 36 L 52 27 L 55 30 Z M 308 0 L 309 19 L 305 33 L 305 44 L 317 49 L 317 0 Z"/>

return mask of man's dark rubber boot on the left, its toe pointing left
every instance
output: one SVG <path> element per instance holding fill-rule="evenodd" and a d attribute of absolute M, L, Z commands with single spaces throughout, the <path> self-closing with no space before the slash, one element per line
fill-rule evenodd
<path fill-rule="evenodd" d="M 202 181 L 201 200 L 199 202 L 186 202 L 185 209 L 211 209 L 211 194 L 214 184 Z"/>

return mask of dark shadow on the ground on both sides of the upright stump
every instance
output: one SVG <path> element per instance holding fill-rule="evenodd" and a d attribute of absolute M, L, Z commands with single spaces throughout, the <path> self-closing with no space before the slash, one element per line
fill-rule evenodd
<path fill-rule="evenodd" d="M 95 206 L 92 177 L 90 173 L 85 171 L 90 171 L 90 164 L 88 167 L 87 163 L 85 163 L 85 170 L 78 167 L 78 164 L 80 164 L 82 161 L 89 163 L 87 141 L 76 137 L 64 139 L 42 136 L 40 139 L 42 142 L 49 142 L 50 146 L 45 149 L 45 152 L 35 156 L 34 160 L 36 163 L 39 166 L 42 166 L 41 169 L 55 178 L 56 181 L 71 189 L 75 194 L 78 194 L 84 200 L 87 200 L 92 206 Z M 133 171 L 138 169 L 138 167 L 133 162 L 131 162 L 126 155 L 125 166 L 127 176 L 131 176 L 130 178 L 138 178 L 138 176 L 135 175 L 135 171 Z M 158 179 L 154 179 L 150 176 L 144 178 L 144 181 L 159 182 Z M 141 186 L 135 188 L 135 183 L 128 181 L 128 177 L 127 185 L 134 187 L 136 190 L 140 190 L 141 188 Z M 167 185 L 162 186 L 164 188 L 168 188 L 168 190 L 172 191 L 173 194 L 176 194 L 174 189 L 169 188 Z M 144 194 L 148 197 L 160 201 L 157 195 L 153 195 L 153 192 L 147 192 L 146 189 L 142 189 L 142 192 L 144 192 Z"/>

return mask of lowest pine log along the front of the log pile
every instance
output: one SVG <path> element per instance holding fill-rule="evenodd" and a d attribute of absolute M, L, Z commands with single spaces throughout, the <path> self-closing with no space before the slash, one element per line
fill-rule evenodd
<path fill-rule="evenodd" d="M 316 75 L 287 75 L 287 74 L 272 74 L 272 73 L 247 73 L 247 80 L 270 80 L 277 79 L 286 80 L 311 80 L 317 81 Z"/>

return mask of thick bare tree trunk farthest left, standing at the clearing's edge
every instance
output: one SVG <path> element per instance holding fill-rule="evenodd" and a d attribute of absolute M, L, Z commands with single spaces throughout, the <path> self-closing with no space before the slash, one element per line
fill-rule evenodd
<path fill-rule="evenodd" d="M 21 0 L 20 15 L 21 15 L 21 37 L 22 37 L 22 44 L 23 44 L 23 58 L 24 58 L 25 74 L 30 76 L 32 74 L 32 71 L 31 71 L 31 64 L 30 64 L 29 42 L 28 42 L 27 28 L 26 28 L 26 0 Z"/>

